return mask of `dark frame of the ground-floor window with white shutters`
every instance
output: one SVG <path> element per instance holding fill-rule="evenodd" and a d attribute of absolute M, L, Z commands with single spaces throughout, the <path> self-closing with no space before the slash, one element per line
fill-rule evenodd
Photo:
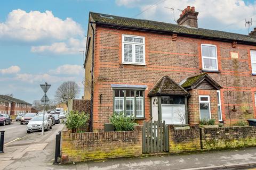
<path fill-rule="evenodd" d="M 133 100 L 134 101 L 134 108 L 133 108 L 134 109 L 134 114 L 132 116 L 135 120 L 145 119 L 145 89 L 140 89 L 140 88 L 135 88 L 135 89 L 133 89 L 133 88 L 113 88 L 113 113 L 115 113 L 115 90 L 124 90 L 124 97 L 123 97 L 124 98 L 123 99 L 124 111 L 123 112 L 124 112 L 125 115 L 126 115 L 126 90 L 133 90 L 134 91 L 134 100 Z M 141 117 L 137 117 L 136 92 L 138 90 L 142 91 L 142 95 L 143 95 L 143 106 L 142 106 L 143 116 L 141 116 Z"/>

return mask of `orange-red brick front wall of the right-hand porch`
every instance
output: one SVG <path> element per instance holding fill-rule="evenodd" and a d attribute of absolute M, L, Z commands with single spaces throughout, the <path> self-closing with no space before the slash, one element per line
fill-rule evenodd
<path fill-rule="evenodd" d="M 188 122 L 189 124 L 198 124 L 200 121 L 200 109 L 199 109 L 199 96 L 207 95 L 210 96 L 210 108 L 211 118 L 218 124 L 218 99 L 216 90 L 201 90 L 193 89 L 189 90 L 191 95 L 188 99 Z"/>

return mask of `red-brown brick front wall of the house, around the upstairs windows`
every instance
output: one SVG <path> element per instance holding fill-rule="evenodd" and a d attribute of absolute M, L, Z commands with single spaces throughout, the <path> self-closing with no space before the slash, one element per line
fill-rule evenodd
<path fill-rule="evenodd" d="M 122 35 L 135 35 L 145 37 L 146 66 L 122 64 Z M 109 122 L 113 114 L 113 90 L 111 84 L 140 84 L 147 85 L 145 91 L 146 121 L 150 119 L 149 90 L 164 75 L 168 75 L 175 82 L 202 73 L 201 44 L 217 46 L 219 73 L 209 73 L 223 89 L 221 92 L 222 118 L 228 120 L 228 109 L 233 105 L 238 108 L 231 113 L 235 123 L 238 120 L 256 116 L 254 91 L 256 91 L 256 76 L 251 72 L 250 49 L 256 46 L 237 44 L 233 48 L 231 43 L 216 40 L 196 39 L 190 37 L 177 37 L 172 41 L 171 35 L 162 35 L 142 31 L 95 28 L 94 44 L 94 85 L 93 98 L 93 128 L 102 130 L 103 123 Z M 230 53 L 238 53 L 238 59 L 231 58 Z M 86 77 L 90 78 L 91 62 L 86 63 Z M 227 86 L 226 86 L 227 84 Z M 88 89 L 85 87 L 85 89 Z M 227 91 L 228 90 L 228 91 Z M 231 95 L 230 95 L 231 92 Z M 100 95 L 102 103 L 100 104 Z M 234 98 L 233 98 L 234 94 Z M 254 114 L 245 115 L 240 107 L 249 103 Z M 227 102 L 229 95 L 229 106 Z M 85 98 L 88 92 L 85 93 Z M 141 121 L 142 122 L 142 121 Z"/>

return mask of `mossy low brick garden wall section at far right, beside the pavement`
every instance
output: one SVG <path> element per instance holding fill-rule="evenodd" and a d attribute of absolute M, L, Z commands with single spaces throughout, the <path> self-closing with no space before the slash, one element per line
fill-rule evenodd
<path fill-rule="evenodd" d="M 256 146 L 256 127 L 202 128 L 203 150 Z"/>

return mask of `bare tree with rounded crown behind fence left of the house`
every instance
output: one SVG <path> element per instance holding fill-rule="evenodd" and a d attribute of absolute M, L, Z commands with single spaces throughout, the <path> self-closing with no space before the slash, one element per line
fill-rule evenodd
<path fill-rule="evenodd" d="M 68 106 L 68 100 L 75 99 L 80 93 L 80 88 L 75 81 L 65 81 L 55 92 L 55 99 Z"/>

